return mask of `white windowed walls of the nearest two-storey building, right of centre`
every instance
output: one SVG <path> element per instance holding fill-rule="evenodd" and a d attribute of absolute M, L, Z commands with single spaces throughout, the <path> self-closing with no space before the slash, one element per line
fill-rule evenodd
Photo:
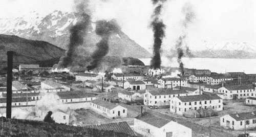
<path fill-rule="evenodd" d="M 214 110 L 223 110 L 223 100 L 203 100 L 203 101 L 193 101 L 193 102 L 182 102 L 177 97 L 170 101 L 170 112 L 176 112 L 178 115 L 183 115 L 183 113 L 190 108 L 195 110 L 199 108 L 214 107 Z"/>

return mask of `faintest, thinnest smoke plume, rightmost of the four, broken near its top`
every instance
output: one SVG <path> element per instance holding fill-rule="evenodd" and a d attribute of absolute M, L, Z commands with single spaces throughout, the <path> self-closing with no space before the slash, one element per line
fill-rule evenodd
<path fill-rule="evenodd" d="M 185 18 L 182 21 L 182 26 L 184 27 L 184 30 L 185 30 L 185 29 L 187 29 L 188 25 L 191 24 L 193 22 L 193 20 L 196 18 L 196 14 L 193 11 L 193 8 L 190 5 L 190 3 L 185 3 L 184 4 L 184 6 L 182 8 L 182 13 L 185 14 Z M 183 62 L 181 60 L 181 58 L 184 56 L 184 50 L 185 50 L 185 53 L 189 57 L 193 56 L 191 54 L 187 44 L 185 44 L 185 38 L 186 38 L 186 34 L 183 34 L 182 36 L 180 36 L 179 39 L 176 42 L 176 45 L 175 45 L 175 48 L 176 48 L 177 53 L 178 53 L 177 61 L 178 61 L 179 66 L 180 66 L 181 75 L 184 75 L 184 64 L 183 64 Z M 184 49 L 183 49 L 182 45 L 185 45 Z"/>

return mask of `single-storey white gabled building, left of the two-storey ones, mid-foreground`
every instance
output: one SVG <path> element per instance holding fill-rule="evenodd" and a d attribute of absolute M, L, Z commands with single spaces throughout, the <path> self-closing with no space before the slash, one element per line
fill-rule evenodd
<path fill-rule="evenodd" d="M 101 99 L 93 100 L 90 103 L 90 108 L 109 119 L 127 117 L 127 108 Z"/>

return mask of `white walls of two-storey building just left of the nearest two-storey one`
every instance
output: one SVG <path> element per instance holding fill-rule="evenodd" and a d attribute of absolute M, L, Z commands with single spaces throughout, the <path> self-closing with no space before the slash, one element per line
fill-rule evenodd
<path fill-rule="evenodd" d="M 144 104 L 145 105 L 157 105 L 161 101 L 162 103 L 169 104 L 168 102 L 174 97 L 187 96 L 187 94 L 175 94 L 175 95 L 157 95 L 153 96 L 150 92 L 146 91 L 144 94 Z"/>

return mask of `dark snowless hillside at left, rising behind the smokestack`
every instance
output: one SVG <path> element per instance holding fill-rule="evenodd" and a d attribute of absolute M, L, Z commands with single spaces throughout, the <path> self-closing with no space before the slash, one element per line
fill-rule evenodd
<path fill-rule="evenodd" d="M 2 66 L 7 63 L 7 51 L 14 51 L 14 65 L 20 63 L 39 63 L 50 66 L 57 63 L 59 58 L 65 54 L 65 50 L 55 45 L 37 40 L 28 40 L 18 36 L 0 34 L 0 62 Z"/>

